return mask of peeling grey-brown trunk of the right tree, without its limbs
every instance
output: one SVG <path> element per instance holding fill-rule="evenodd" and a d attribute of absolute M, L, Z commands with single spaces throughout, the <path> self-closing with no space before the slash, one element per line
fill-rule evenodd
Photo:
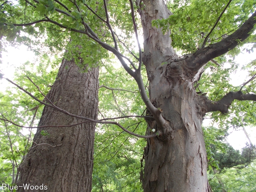
<path fill-rule="evenodd" d="M 149 79 L 149 97 L 168 122 L 165 132 L 147 140 L 143 189 L 145 192 L 210 191 L 201 121 L 204 107 L 171 46 L 170 33 L 152 28 L 151 21 L 171 14 L 163 0 L 143 0 L 143 63 Z M 162 65 L 168 62 L 171 65 Z M 150 129 L 159 130 L 155 121 Z"/>

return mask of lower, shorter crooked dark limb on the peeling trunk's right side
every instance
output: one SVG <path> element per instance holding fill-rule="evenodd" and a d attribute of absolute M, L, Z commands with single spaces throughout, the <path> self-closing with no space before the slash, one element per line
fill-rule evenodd
<path fill-rule="evenodd" d="M 233 100 L 252 100 L 256 101 L 255 94 L 243 94 L 241 91 L 229 92 L 222 99 L 218 101 L 211 101 L 204 97 L 206 100 L 206 112 L 220 111 L 221 113 L 228 113 L 228 108 Z"/>

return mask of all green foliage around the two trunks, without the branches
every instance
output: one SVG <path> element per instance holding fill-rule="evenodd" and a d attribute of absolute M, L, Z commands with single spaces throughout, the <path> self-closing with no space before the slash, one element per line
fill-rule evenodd
<path fill-rule="evenodd" d="M 113 54 L 107 52 L 102 46 L 82 33 L 85 31 L 83 22 L 86 22 L 93 31 L 97 31 L 97 36 L 101 41 L 114 46 L 111 31 L 101 20 L 102 18 L 106 19 L 104 6 L 95 0 L 74 2 L 61 0 L 60 4 L 57 1 L 40 0 L 32 4 L 26 1 L 6 1 L 1 4 L 0 37 L 3 41 L 1 41 L 0 48 L 4 48 L 8 44 L 13 46 L 26 44 L 37 53 L 51 52 L 56 54 L 67 50 L 63 53 L 64 58 L 75 59 L 83 71 L 86 71 L 84 70 L 85 65 L 100 67 L 100 85 L 130 91 L 109 90 L 101 87 L 99 90 L 99 119 L 113 116 L 145 115 L 146 108 L 141 100 L 136 82 L 132 81 L 131 76 L 124 69 L 115 68 L 115 64 L 109 64 L 115 62 Z M 172 46 L 178 51 L 182 51 L 184 54 L 195 52 L 202 47 L 204 38 L 210 33 L 226 3 L 227 1 L 224 0 L 174 0 L 172 3 L 167 2 L 173 14 L 168 19 L 153 21 L 152 25 L 161 27 L 163 33 L 171 30 Z M 85 5 L 87 6 L 85 7 Z M 98 16 L 89 11 L 88 7 Z M 215 29 L 209 34 L 206 45 L 218 42 L 232 33 L 248 19 L 248 16 L 255 9 L 256 5 L 253 0 L 232 1 Z M 67 14 L 60 14 L 60 12 Z M 124 46 L 126 44 L 132 54 L 139 56 L 139 53 L 135 51 L 136 46 L 132 39 L 133 24 L 129 4 L 124 0 L 118 3 L 109 0 L 108 12 L 110 24 L 115 28 L 119 37 L 117 44 L 120 52 L 132 62 L 138 62 L 127 53 Z M 53 22 L 37 22 L 46 17 L 58 21 L 60 25 Z M 135 20 L 138 20 L 138 15 L 135 15 Z M 15 25 L 28 22 L 35 23 L 24 26 Z M 80 32 L 76 33 L 74 30 L 80 30 Z M 245 43 L 256 43 L 255 34 L 252 34 Z M 47 48 L 39 49 L 38 47 Z M 248 52 L 253 52 L 254 47 L 255 45 Z M 230 73 L 239 70 L 238 64 L 230 56 L 233 57 L 239 52 L 240 49 L 234 49 L 226 55 L 215 58 L 219 63 L 218 65 L 210 61 L 205 66 L 206 71 L 201 74 L 200 80 L 195 84 L 198 94 L 207 93 L 206 96 L 209 99 L 219 100 L 229 91 L 240 90 L 241 86 L 235 87 L 230 84 Z M 32 72 L 27 70 L 28 64 L 20 68 L 20 72 L 16 74 L 16 81 L 28 92 L 43 100 L 44 97 L 26 76 L 29 76 L 40 90 L 47 93 L 54 81 L 57 72 L 56 67 L 59 63 L 60 60 L 58 59 L 52 63 L 44 55 L 40 58 L 36 70 L 32 70 Z M 53 70 L 47 73 L 49 67 L 52 67 Z M 255 75 L 254 67 L 255 61 L 244 66 L 244 68 L 249 68 L 248 79 Z M 143 67 L 142 77 L 147 90 L 147 74 Z M 253 93 L 255 86 L 255 82 L 251 81 L 244 85 L 242 91 Z M 27 97 L 25 93 L 13 91 L 11 88 L 1 94 L 2 118 L 12 119 L 13 122 L 20 125 L 36 126 L 43 106 Z M 255 125 L 255 109 L 253 102 L 234 101 L 229 108 L 229 114 L 213 112 L 207 115 L 213 119 L 213 123 L 218 127 L 206 127 L 204 129 L 210 183 L 215 191 L 223 188 L 223 185 L 234 191 L 237 189 L 240 191 L 253 190 L 252 181 L 255 180 L 255 177 L 251 173 L 255 172 L 255 164 L 249 164 L 255 158 L 255 154 L 251 153 L 252 150 L 248 147 L 244 148 L 241 154 L 226 144 L 224 140 L 227 136 L 227 130 L 231 126 L 237 128 L 248 124 Z M 147 124 L 141 118 L 120 119 L 118 122 L 128 130 L 141 135 L 144 135 L 147 130 Z M 2 169 L 0 180 L 13 184 L 12 176 L 17 174 L 17 171 L 15 174 L 12 173 L 13 165 L 16 170 L 22 156 L 28 151 L 31 142 L 27 138 L 31 138 L 31 133 L 23 136 L 21 128 L 6 124 L 4 121 L 1 121 L 0 129 L 1 143 L 7 144 L 0 147 L 0 166 Z M 98 124 L 95 134 L 92 191 L 141 191 L 139 178 L 143 147 L 145 147 L 144 139 L 128 135 L 116 126 Z M 227 169 L 227 167 L 237 167 L 237 165 L 246 166 L 240 172 Z M 221 178 L 223 185 L 220 185 L 220 180 L 218 180 L 214 170 L 221 171 L 218 173 L 220 175 L 218 177 Z M 236 182 L 231 182 L 232 178 L 235 177 L 238 178 L 234 179 Z M 251 186 L 245 186 L 246 182 Z M 232 185 L 232 183 L 236 183 L 236 185 Z"/>

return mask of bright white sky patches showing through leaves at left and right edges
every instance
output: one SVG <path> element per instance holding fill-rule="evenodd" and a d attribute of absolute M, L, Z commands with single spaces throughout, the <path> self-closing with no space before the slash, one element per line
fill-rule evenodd
<path fill-rule="evenodd" d="M 27 50 L 25 45 L 21 45 L 19 49 L 14 47 L 8 47 L 8 52 L 2 53 L 2 64 L 0 66 L 1 73 L 4 73 L 5 77 L 9 79 L 14 78 L 14 71 L 17 67 L 25 63 L 26 61 L 33 62 L 35 58 L 35 54 L 31 51 Z M 256 54 L 244 51 L 240 53 L 236 57 L 236 62 L 240 63 L 241 65 L 249 63 L 251 60 L 256 59 Z M 248 80 L 247 71 L 238 70 L 236 74 L 232 74 L 232 81 L 231 83 L 235 86 L 239 86 L 242 83 Z M 6 83 L 6 80 L 0 80 L 0 91 L 4 92 L 6 87 L 10 86 L 10 84 Z M 204 122 L 204 124 L 209 124 L 209 122 Z M 256 127 L 246 127 L 246 131 L 249 134 L 250 139 L 252 140 L 253 144 L 256 144 Z M 235 149 L 241 149 L 245 147 L 245 143 L 248 142 L 243 130 L 229 130 L 230 135 L 228 136 L 228 142 L 233 146 Z"/>

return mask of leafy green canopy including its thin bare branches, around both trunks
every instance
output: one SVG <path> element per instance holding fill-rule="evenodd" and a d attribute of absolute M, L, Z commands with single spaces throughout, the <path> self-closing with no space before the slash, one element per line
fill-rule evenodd
<path fill-rule="evenodd" d="M 256 125 L 256 61 L 244 63 L 241 69 L 234 60 L 243 46 L 253 54 L 256 4 L 253 0 L 165 3 L 170 16 L 153 20 L 152 26 L 171 36 L 173 48 L 180 53 L 172 62 L 179 59 L 195 64 L 189 67 L 194 75 L 199 72 L 199 78 L 193 82 L 196 93 L 216 101 L 215 106 L 209 104 L 206 109 L 212 126 L 203 130 L 210 185 L 213 191 L 253 191 L 254 147 L 248 145 L 242 152 L 236 151 L 225 138 L 230 127 Z M 60 58 L 64 57 L 75 59 L 81 72 L 100 68 L 99 115 L 93 120 L 99 124 L 94 144 L 92 191 L 142 191 L 144 138 L 163 134 L 162 130 L 148 128 L 147 122 L 155 118 L 157 124 L 164 124 L 161 109 L 148 99 L 151 77 L 143 64 L 145 54 L 139 38 L 145 33 L 140 22 L 145 9 L 143 1 L 132 0 L 1 3 L 1 51 L 8 45 L 25 44 L 39 55 L 35 65 L 26 63 L 19 68 L 13 81 L 0 74 L 23 88 L 9 88 L 0 95 L 1 184 L 17 182 L 17 167 L 31 146 L 31 129 L 37 126 L 46 104 L 44 95 L 54 83 Z M 155 14 L 158 12 L 161 10 L 155 10 Z M 51 55 L 56 58 L 51 60 Z M 208 56 L 209 62 L 204 65 L 202 60 Z M 161 66 L 170 62 L 167 59 Z M 119 63 L 122 67 L 117 67 Z M 47 68 L 51 71 L 47 72 Z M 230 75 L 240 70 L 247 70 L 248 77 L 241 80 L 241 86 L 233 86 Z M 230 92 L 243 95 L 233 96 Z M 218 107 L 226 101 L 227 105 Z M 111 119 L 116 117 L 118 119 Z M 28 127 L 29 131 L 24 132 L 23 127 Z M 48 133 L 41 134 L 47 136 Z M 232 182 L 235 185 L 230 184 L 231 180 L 235 180 Z"/>

